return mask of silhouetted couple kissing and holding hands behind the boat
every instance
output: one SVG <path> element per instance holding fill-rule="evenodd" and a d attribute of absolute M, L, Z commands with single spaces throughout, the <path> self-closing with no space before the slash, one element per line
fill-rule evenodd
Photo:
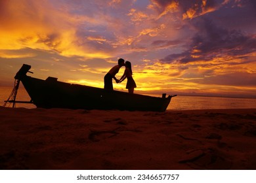
<path fill-rule="evenodd" d="M 123 76 L 119 80 L 116 78 L 116 74 L 119 72 L 119 69 L 121 67 L 125 66 L 125 72 L 123 73 Z M 131 62 L 125 61 L 124 59 L 120 58 L 118 59 L 118 65 L 115 65 L 108 71 L 108 73 L 104 76 L 104 89 L 106 90 L 114 90 L 112 78 L 116 80 L 116 83 L 121 83 L 125 78 L 127 78 L 127 84 L 126 89 L 128 89 L 129 93 L 134 92 L 134 88 L 136 88 L 135 80 L 133 80 L 133 71 L 131 69 Z"/>

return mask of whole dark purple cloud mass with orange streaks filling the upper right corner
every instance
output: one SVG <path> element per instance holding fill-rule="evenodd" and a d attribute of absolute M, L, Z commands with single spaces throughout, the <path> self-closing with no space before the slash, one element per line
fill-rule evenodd
<path fill-rule="evenodd" d="M 256 36 L 247 29 L 256 27 L 255 1 L 154 0 L 154 3 L 162 9 L 168 5 L 168 2 L 179 5 L 180 18 L 182 16 L 184 24 L 190 25 L 196 32 L 183 52 L 169 54 L 160 61 L 189 63 L 216 58 L 245 59 L 255 52 Z M 243 26 L 239 26 L 240 24 Z"/>

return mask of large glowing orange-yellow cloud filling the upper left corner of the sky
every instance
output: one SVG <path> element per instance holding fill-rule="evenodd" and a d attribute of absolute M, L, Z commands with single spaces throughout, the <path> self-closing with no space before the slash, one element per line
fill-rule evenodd
<path fill-rule="evenodd" d="M 108 53 L 79 44 L 77 26 L 84 21 L 92 22 L 86 16 L 72 15 L 65 9 L 56 10 L 48 1 L 8 1 L 2 5 L 5 11 L 0 12 L 1 50 L 32 48 L 68 57 L 110 57 Z"/>

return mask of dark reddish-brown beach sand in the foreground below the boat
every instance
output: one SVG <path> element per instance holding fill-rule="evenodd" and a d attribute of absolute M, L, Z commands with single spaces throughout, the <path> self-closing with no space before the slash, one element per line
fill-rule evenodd
<path fill-rule="evenodd" d="M 256 169 L 256 109 L 0 107 L 0 169 Z"/>

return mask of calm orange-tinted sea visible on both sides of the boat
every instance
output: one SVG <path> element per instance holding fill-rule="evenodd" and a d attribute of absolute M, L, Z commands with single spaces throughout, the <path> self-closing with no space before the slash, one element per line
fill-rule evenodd
<path fill-rule="evenodd" d="M 0 105 L 8 99 L 12 87 L 0 87 Z M 161 97 L 161 95 L 155 95 Z M 28 93 L 23 87 L 18 90 L 18 101 L 30 101 Z M 9 103 L 7 103 L 7 107 Z M 11 106 L 11 105 L 10 105 Z M 16 107 L 35 108 L 32 104 L 16 104 Z M 232 98 L 232 97 L 200 97 L 178 95 L 171 99 L 167 110 L 195 110 L 195 109 L 224 109 L 224 108 L 256 108 L 256 99 Z"/>

